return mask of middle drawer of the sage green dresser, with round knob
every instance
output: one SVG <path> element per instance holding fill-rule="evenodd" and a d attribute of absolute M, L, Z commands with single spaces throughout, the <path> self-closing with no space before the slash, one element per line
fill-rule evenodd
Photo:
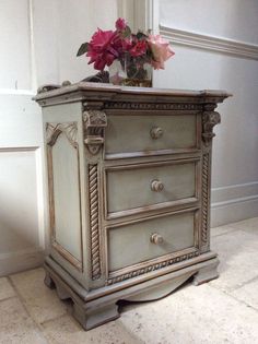
<path fill-rule="evenodd" d="M 198 200 L 199 159 L 116 166 L 106 169 L 107 218 Z"/>

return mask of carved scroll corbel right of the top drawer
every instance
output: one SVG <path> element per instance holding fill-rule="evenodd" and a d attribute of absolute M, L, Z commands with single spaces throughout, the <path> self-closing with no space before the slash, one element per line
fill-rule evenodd
<path fill-rule="evenodd" d="M 213 110 L 214 107 L 214 105 L 206 105 L 206 111 L 202 114 L 202 140 L 206 146 L 209 146 L 215 137 L 213 127 L 221 122 L 221 115 Z"/>

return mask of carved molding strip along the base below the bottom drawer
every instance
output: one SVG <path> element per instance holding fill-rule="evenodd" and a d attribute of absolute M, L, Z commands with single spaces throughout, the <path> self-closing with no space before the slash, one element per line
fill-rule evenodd
<path fill-rule="evenodd" d="M 132 278 L 132 277 L 136 277 L 136 276 L 140 276 L 140 275 L 142 275 L 144 273 L 152 272 L 152 271 L 155 271 L 155 270 L 160 270 L 162 268 L 166 268 L 166 266 L 169 266 L 172 264 L 175 264 L 175 263 L 178 263 L 178 262 L 181 262 L 184 260 L 191 259 L 191 258 L 195 258 L 195 257 L 198 257 L 198 256 L 200 256 L 200 252 L 199 251 L 195 251 L 195 252 L 191 252 L 191 253 L 187 253 L 187 254 L 183 254 L 183 256 L 179 256 L 179 257 L 175 257 L 175 258 L 168 259 L 166 261 L 163 261 L 161 263 L 149 265 L 146 268 L 138 269 L 138 270 L 125 273 L 125 274 L 122 274 L 120 276 L 117 276 L 117 277 L 114 277 L 114 278 L 109 278 L 109 280 L 107 280 L 106 285 L 112 285 L 114 283 L 118 283 L 118 282 L 122 282 L 125 280 L 129 280 L 129 278 Z"/>

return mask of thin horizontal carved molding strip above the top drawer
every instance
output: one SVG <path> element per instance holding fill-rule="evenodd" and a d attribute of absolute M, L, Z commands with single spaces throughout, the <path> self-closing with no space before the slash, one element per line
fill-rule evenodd
<path fill-rule="evenodd" d="M 171 104 L 171 103 L 126 103 L 109 102 L 104 105 L 106 109 L 133 109 L 133 110 L 202 110 L 201 104 Z"/>

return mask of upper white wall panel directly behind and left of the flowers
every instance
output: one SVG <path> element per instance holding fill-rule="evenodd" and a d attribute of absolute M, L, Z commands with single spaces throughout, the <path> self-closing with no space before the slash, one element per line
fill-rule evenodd
<path fill-rule="evenodd" d="M 117 0 L 34 0 L 34 45 L 37 84 L 78 82 L 96 71 L 84 56 L 77 57 L 99 26 L 110 29 Z"/>

